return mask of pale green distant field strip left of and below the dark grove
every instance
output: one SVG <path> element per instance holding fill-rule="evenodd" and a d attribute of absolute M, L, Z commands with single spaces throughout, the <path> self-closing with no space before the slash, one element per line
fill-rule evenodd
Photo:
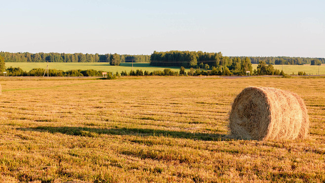
<path fill-rule="evenodd" d="M 6 62 L 5 66 L 8 68 L 12 67 L 20 67 L 24 71 L 30 71 L 34 68 L 46 68 L 46 62 Z M 50 62 L 48 63 L 48 67 L 50 69 L 57 69 L 57 70 L 74 70 L 74 69 L 94 69 L 98 71 L 108 71 L 108 72 L 116 72 L 118 71 L 121 73 L 122 71 L 131 71 L 132 70 L 132 63 L 121 63 L 120 66 L 112 66 L 108 62 Z M 157 71 L 163 70 L 166 67 L 157 67 L 157 66 L 150 66 L 149 63 L 133 63 L 133 70 L 142 69 L 143 71 L 147 70 Z M 168 67 L 173 71 L 179 71 L 179 67 Z"/>

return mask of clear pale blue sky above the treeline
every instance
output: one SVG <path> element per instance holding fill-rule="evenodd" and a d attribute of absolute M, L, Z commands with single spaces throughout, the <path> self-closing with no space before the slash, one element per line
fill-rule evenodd
<path fill-rule="evenodd" d="M 0 0 L 0 51 L 325 57 L 325 0 Z"/>

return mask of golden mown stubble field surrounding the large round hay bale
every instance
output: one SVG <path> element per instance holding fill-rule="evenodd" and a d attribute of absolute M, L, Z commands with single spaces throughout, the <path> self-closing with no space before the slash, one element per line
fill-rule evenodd
<path fill-rule="evenodd" d="M 325 181 L 325 78 L 0 78 L 0 182 Z M 248 86 L 299 94 L 310 138 L 227 138 Z"/>

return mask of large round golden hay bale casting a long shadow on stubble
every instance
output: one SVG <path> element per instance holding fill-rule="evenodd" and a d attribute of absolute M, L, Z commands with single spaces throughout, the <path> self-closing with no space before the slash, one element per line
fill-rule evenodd
<path fill-rule="evenodd" d="M 231 137 L 296 139 L 308 135 L 306 105 L 297 94 L 269 87 L 248 87 L 237 95 L 229 115 Z"/>

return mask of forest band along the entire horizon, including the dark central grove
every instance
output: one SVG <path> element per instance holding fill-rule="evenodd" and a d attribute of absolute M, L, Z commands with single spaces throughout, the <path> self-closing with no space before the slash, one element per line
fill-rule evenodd
<path fill-rule="evenodd" d="M 151 62 L 156 66 L 186 66 L 190 67 L 190 62 L 229 62 L 234 58 L 249 58 L 252 64 L 264 61 L 267 64 L 288 64 L 302 65 L 311 63 L 325 63 L 325 58 L 310 57 L 288 57 L 288 56 L 222 56 L 221 52 L 203 51 L 154 51 L 151 55 L 130 55 L 130 54 L 88 54 L 88 53 L 29 53 L 29 52 L 0 52 L 5 62 L 109 62 L 112 55 L 118 55 L 121 62 Z M 203 56 L 204 55 L 204 56 Z M 203 58 L 204 57 L 204 58 Z M 195 60 L 196 59 L 196 60 Z M 313 62 L 314 60 L 314 62 Z M 316 61 L 316 62 L 315 62 Z M 185 64 L 186 62 L 186 64 Z M 221 63 L 220 62 L 220 63 Z M 193 65 L 193 64 L 192 64 Z"/>

